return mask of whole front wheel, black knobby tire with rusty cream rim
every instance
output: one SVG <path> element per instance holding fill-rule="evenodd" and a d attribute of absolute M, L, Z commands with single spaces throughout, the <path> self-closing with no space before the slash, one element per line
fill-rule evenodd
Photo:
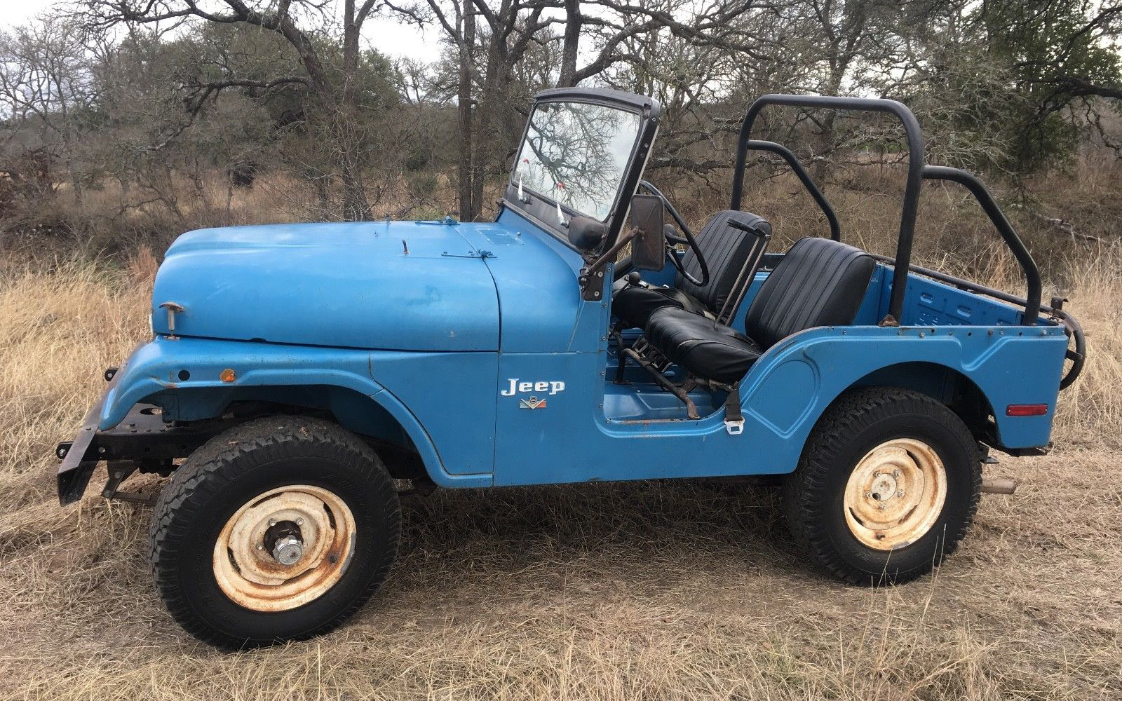
<path fill-rule="evenodd" d="M 397 554 L 393 479 L 358 436 L 313 418 L 249 422 L 195 451 L 153 514 L 153 575 L 168 611 L 223 648 L 327 633 Z"/>

